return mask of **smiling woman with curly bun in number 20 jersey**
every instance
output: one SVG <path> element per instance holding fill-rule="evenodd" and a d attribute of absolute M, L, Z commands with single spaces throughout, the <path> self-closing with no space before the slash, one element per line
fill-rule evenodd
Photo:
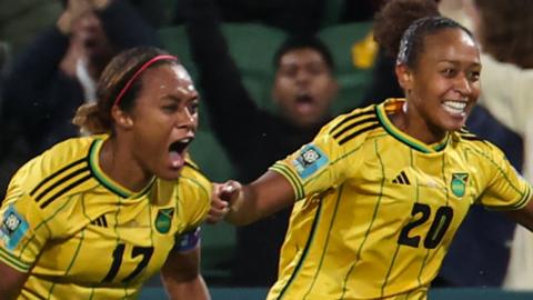
<path fill-rule="evenodd" d="M 530 183 L 464 128 L 479 47 L 450 19 L 410 13 L 431 4 L 390 0 L 376 20 L 404 99 L 339 116 L 250 184 L 217 186 L 211 213 L 235 224 L 294 206 L 268 299 L 426 299 L 473 204 L 533 229 Z"/>

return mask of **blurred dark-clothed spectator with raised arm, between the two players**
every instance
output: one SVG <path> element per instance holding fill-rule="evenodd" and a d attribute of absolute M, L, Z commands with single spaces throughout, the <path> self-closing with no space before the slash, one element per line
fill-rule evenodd
<path fill-rule="evenodd" d="M 212 0 L 184 0 L 183 4 L 212 130 L 228 152 L 237 178 L 248 182 L 309 142 L 330 119 L 338 91 L 331 54 L 315 38 L 294 38 L 282 44 L 274 58 L 276 73 L 272 87 L 280 116 L 271 114 L 259 109 L 245 90 Z M 234 284 L 274 282 L 289 214 L 290 209 L 285 209 L 238 229 Z"/>

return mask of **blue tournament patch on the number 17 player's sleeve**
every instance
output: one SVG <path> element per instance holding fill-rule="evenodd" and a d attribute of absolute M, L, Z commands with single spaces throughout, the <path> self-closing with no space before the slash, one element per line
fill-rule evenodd
<path fill-rule="evenodd" d="M 0 223 L 0 240 L 8 250 L 17 248 L 28 231 L 28 222 L 12 206 L 3 212 Z"/>

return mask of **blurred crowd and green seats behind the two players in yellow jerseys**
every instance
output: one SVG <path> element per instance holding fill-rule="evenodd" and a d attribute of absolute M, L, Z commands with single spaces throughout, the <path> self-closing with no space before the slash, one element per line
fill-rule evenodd
<path fill-rule="evenodd" d="M 141 44 L 177 54 L 201 92 L 191 156 L 203 172 L 213 181 L 257 178 L 310 141 L 332 116 L 402 97 L 395 59 L 379 49 L 372 34 L 374 13 L 384 1 L 0 0 L 0 196 L 23 162 L 80 134 L 71 119 L 80 104 L 94 101 L 105 63 Z M 533 2 L 439 2 L 441 13 L 474 30 L 496 64 L 532 78 Z M 319 63 L 305 64 L 313 53 Z M 298 68 L 284 67 L 290 59 Z M 491 91 L 510 88 L 495 86 Z M 301 111 L 311 111 L 310 119 Z M 527 172 L 530 127 L 513 124 L 507 119 L 514 114 L 505 119 L 502 113 L 480 106 L 470 130 L 500 146 L 517 170 Z M 208 284 L 270 286 L 288 216 L 282 211 L 245 228 L 204 226 Z M 435 286 L 533 288 L 532 272 L 519 283 L 507 276 L 517 234 L 511 221 L 474 207 L 464 222 Z M 530 233 L 520 234 L 531 244 Z M 533 269 L 533 251 L 513 256 L 520 256 L 519 269 Z"/>

